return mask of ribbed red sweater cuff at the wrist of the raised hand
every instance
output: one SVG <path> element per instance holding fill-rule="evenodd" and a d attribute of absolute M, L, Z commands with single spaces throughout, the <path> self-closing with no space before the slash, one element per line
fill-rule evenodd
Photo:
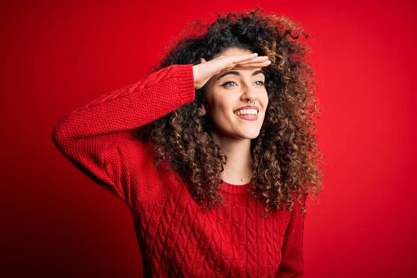
<path fill-rule="evenodd" d="M 193 65 L 177 65 L 179 80 L 179 98 L 181 104 L 188 104 L 195 99 Z"/>

